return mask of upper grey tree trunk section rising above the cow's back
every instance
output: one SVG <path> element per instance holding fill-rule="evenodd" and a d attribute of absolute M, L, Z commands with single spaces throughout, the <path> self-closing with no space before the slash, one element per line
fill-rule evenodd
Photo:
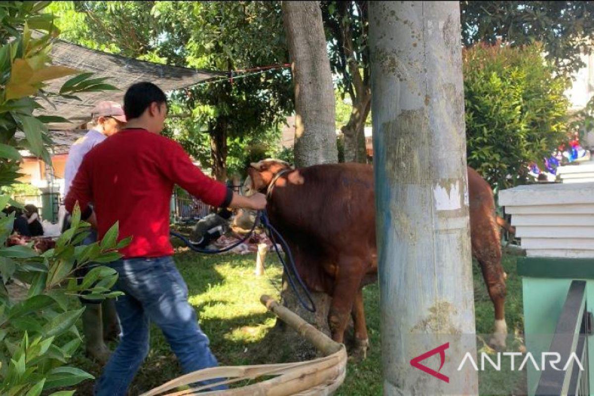
<path fill-rule="evenodd" d="M 334 87 L 318 1 L 283 1 L 295 85 L 295 164 L 336 163 Z"/>

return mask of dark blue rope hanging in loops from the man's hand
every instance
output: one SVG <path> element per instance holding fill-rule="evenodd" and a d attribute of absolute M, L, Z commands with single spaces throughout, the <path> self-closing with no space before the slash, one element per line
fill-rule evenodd
<path fill-rule="evenodd" d="M 293 292 L 295 292 L 295 295 L 297 296 L 299 303 L 301 303 L 301 306 L 304 309 L 307 309 L 307 311 L 315 312 L 314 300 L 311 298 L 311 294 L 309 294 L 309 290 L 307 289 L 307 286 L 305 286 L 303 280 L 301 279 L 301 277 L 299 276 L 299 273 L 297 272 L 297 268 L 295 267 L 295 260 L 293 259 L 293 255 L 291 254 L 289 245 L 287 244 L 287 242 L 283 238 L 283 236 L 280 235 L 280 233 L 276 230 L 276 228 L 274 228 L 274 226 L 272 224 L 270 224 L 270 220 L 268 220 L 268 215 L 266 214 L 266 210 L 258 211 L 258 215 L 259 216 L 257 216 L 254 221 L 254 225 L 252 226 L 251 230 L 249 230 L 248 234 L 244 237 L 244 239 L 239 240 L 239 242 L 233 243 L 233 245 L 227 246 L 226 248 L 222 248 L 222 249 L 217 249 L 217 250 L 201 249 L 201 248 L 198 248 L 198 246 L 194 245 L 194 243 L 192 243 L 189 239 L 187 239 L 187 237 L 185 237 L 177 232 L 169 231 L 169 234 L 181 239 L 182 242 L 184 242 L 185 245 L 187 245 L 188 248 L 190 248 L 194 252 L 203 253 L 203 254 L 219 254 L 219 253 L 228 252 L 231 249 L 236 248 L 237 246 L 241 245 L 246 240 L 248 240 L 249 237 L 254 233 L 255 228 L 258 226 L 258 220 L 259 220 L 259 222 L 262 223 L 262 225 L 264 227 L 266 227 L 266 229 L 268 229 L 268 234 L 270 236 L 272 245 L 274 246 L 274 251 L 276 251 L 277 256 L 279 256 L 279 261 L 283 265 L 283 268 L 285 268 L 285 273 L 287 274 L 287 279 L 289 280 L 291 289 L 293 289 Z M 289 270 L 289 265 L 287 265 L 287 263 L 285 262 L 285 259 L 283 259 L 283 255 L 280 254 L 279 247 L 277 246 L 277 243 L 276 243 L 275 235 L 279 238 L 280 244 L 283 247 L 283 251 L 286 252 L 287 257 L 289 258 L 290 270 Z M 311 305 L 309 305 L 309 306 L 306 305 L 306 303 L 302 299 L 301 293 L 299 293 L 297 291 L 297 286 L 295 284 L 295 280 L 293 280 L 293 276 L 291 275 L 291 272 L 294 274 L 295 278 L 297 278 L 299 286 L 301 286 L 301 290 L 303 290 L 303 292 L 305 292 L 305 296 L 307 296 L 307 299 L 309 300 L 309 303 Z"/>

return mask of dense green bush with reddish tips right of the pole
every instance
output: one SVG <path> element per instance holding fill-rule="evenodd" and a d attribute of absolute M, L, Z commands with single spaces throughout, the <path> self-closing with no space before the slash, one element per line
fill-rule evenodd
<path fill-rule="evenodd" d="M 567 136 L 565 80 L 541 54 L 539 45 L 463 52 L 467 161 L 492 186 L 525 182 L 526 166 Z"/>

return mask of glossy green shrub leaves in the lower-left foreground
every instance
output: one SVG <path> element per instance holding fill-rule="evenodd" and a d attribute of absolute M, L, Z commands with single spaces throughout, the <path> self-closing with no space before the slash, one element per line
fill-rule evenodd
<path fill-rule="evenodd" d="M 4 206 L 8 196 L 0 201 Z M 12 232 L 14 214 L 2 215 L 0 240 L 6 240 Z M 80 285 L 74 272 L 90 262 L 118 259 L 121 255 L 116 249 L 129 240 L 116 242 L 116 223 L 101 244 L 75 246 L 89 235 L 88 229 L 89 224 L 80 221 L 77 207 L 71 229 L 59 237 L 54 249 L 38 254 L 30 245 L 0 248 L 0 394 L 39 394 L 92 378 L 83 370 L 64 366 L 80 345 L 75 322 L 84 311 L 72 309 L 70 300 L 83 292 L 96 300 L 121 293 L 110 291 L 118 278 L 112 268 L 93 268 Z M 10 278 L 30 284 L 23 301 L 11 300 L 5 287 Z"/>

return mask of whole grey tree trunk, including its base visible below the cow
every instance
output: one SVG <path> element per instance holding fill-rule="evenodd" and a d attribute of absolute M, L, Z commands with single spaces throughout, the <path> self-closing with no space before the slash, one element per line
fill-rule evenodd
<path fill-rule="evenodd" d="M 283 1 L 282 7 L 295 84 L 295 164 L 303 167 L 336 163 L 334 88 L 319 2 Z M 317 312 L 311 313 L 301 306 L 283 276 L 281 296 L 283 305 L 330 335 L 327 319 L 330 297 L 327 294 L 312 293 Z M 275 331 L 284 329 L 282 321 L 277 321 Z M 299 360 L 317 355 L 314 347 L 296 332 L 282 332 L 282 337 L 276 337 L 282 342 L 271 344 L 272 350 L 283 349 L 285 354 Z"/>

